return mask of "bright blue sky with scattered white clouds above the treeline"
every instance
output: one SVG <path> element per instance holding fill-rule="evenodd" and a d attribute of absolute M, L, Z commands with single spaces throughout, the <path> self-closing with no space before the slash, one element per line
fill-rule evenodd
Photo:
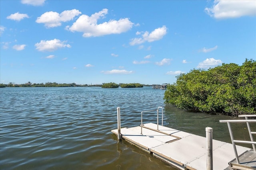
<path fill-rule="evenodd" d="M 176 82 L 256 59 L 256 1 L 0 0 L 0 83 Z"/>

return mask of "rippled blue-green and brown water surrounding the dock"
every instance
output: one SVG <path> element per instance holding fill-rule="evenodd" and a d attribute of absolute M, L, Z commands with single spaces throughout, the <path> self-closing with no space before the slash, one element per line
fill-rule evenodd
<path fill-rule="evenodd" d="M 111 133 L 117 129 L 116 107 L 122 127 L 140 125 L 142 110 L 162 106 L 165 126 L 201 136 L 209 126 L 214 139 L 230 143 L 227 125 L 219 120 L 233 117 L 186 112 L 165 105 L 163 97 L 164 90 L 151 87 L 0 88 L 0 169 L 175 170 L 117 141 Z M 149 122 L 156 123 L 156 116 L 145 114 Z M 248 139 L 245 125 L 234 126 L 234 133 Z"/>

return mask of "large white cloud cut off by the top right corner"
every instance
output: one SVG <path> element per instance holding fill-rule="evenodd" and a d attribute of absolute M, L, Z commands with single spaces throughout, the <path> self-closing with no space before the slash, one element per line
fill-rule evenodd
<path fill-rule="evenodd" d="M 214 5 L 204 9 L 206 13 L 217 19 L 255 16 L 255 0 L 215 0 Z"/>

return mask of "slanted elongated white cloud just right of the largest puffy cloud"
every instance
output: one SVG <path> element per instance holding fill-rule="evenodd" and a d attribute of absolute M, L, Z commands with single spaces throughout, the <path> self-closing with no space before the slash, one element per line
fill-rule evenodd
<path fill-rule="evenodd" d="M 148 31 L 146 31 L 142 34 L 142 37 L 132 39 L 132 41 L 130 42 L 130 45 L 138 45 L 138 44 L 142 44 L 146 41 L 147 42 L 157 41 L 157 40 L 162 39 L 164 37 L 164 35 L 166 35 L 166 33 L 167 33 L 166 26 L 157 28 L 154 31 L 152 31 L 151 33 L 148 33 Z M 140 34 L 138 32 L 136 32 L 136 35 L 140 35 Z"/>

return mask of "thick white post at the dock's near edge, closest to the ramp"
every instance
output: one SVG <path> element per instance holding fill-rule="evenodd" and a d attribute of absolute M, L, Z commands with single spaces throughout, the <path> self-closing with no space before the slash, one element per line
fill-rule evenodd
<path fill-rule="evenodd" d="M 212 128 L 206 127 L 206 170 L 213 170 L 212 160 Z"/>

